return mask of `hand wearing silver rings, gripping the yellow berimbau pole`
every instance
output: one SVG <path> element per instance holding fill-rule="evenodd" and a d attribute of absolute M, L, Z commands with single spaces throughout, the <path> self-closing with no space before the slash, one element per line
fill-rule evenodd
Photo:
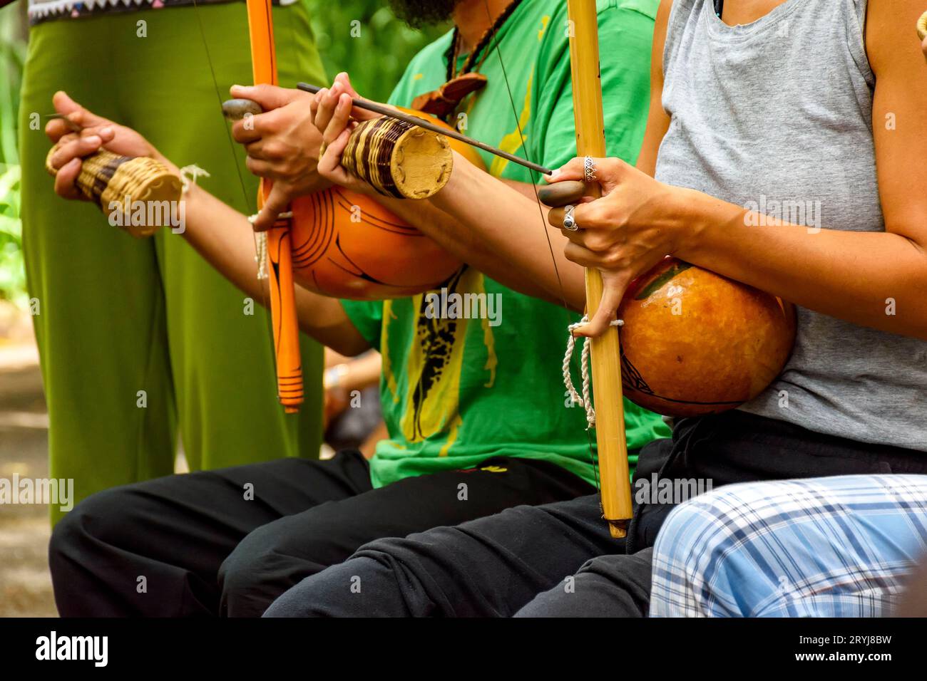
<path fill-rule="evenodd" d="M 593 158 L 602 198 L 573 209 L 578 231 L 564 229 L 566 208 L 553 208 L 548 221 L 569 239 L 564 254 L 583 267 L 602 271 L 602 303 L 578 335 L 603 334 L 616 319 L 628 285 L 679 247 L 678 187 L 659 183 L 619 158 Z M 584 181 L 585 159 L 554 170 L 549 183 Z M 590 310 L 591 312 L 591 310 Z"/>

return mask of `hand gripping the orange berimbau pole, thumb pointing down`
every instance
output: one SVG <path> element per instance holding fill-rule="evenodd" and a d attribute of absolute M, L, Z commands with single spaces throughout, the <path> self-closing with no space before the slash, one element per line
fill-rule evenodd
<path fill-rule="evenodd" d="M 232 126 L 235 142 L 248 152 L 248 170 L 273 183 L 254 222 L 255 231 L 262 232 L 294 198 L 330 185 L 317 171 L 322 134 L 312 124 L 309 93 L 275 85 L 234 85 L 231 93 L 264 110 Z"/>

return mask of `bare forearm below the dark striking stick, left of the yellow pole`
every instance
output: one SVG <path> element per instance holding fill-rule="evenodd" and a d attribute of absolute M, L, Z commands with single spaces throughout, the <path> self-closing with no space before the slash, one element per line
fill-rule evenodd
<path fill-rule="evenodd" d="M 463 158 L 455 161 L 451 180 L 431 199 L 387 199 L 384 205 L 495 281 L 558 304 L 565 297 L 582 309 L 582 269 L 564 258 L 565 239 L 548 229 L 537 200 L 527 197 L 531 185 L 516 191 Z"/>

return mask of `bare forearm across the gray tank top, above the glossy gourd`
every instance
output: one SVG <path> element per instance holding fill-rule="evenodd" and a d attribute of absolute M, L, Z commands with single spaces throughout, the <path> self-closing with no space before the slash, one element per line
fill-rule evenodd
<path fill-rule="evenodd" d="M 763 224 L 700 192 L 677 196 L 680 259 L 847 322 L 927 338 L 923 244 L 898 233 Z"/>

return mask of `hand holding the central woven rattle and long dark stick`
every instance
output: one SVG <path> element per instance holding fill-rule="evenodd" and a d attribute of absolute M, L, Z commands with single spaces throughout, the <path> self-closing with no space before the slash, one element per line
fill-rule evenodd
<path fill-rule="evenodd" d="M 320 90 L 311 104 L 315 127 L 322 131 L 324 154 L 319 159 L 319 174 L 335 184 L 361 194 L 375 195 L 368 183 L 349 173 L 341 165 L 341 155 L 348 145 L 350 133 L 358 120 L 378 118 L 378 114 L 351 106 L 351 99 L 359 96 L 351 87 L 347 73 L 339 73 L 330 89 Z"/>

